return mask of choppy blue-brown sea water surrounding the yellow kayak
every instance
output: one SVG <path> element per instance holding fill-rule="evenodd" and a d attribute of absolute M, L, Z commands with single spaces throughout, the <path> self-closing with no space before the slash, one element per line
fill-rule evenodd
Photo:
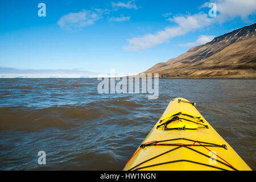
<path fill-rule="evenodd" d="M 0 79 L 1 170 L 121 170 L 173 98 L 256 169 L 256 80 L 160 79 L 159 98 L 100 94 L 95 78 Z M 38 164 L 38 151 L 46 165 Z"/>

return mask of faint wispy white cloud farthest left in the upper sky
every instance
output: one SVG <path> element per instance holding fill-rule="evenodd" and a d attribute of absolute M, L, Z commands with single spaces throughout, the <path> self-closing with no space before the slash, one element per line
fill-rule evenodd
<path fill-rule="evenodd" d="M 79 13 L 69 13 L 61 16 L 61 18 L 57 21 L 57 24 L 59 24 L 61 28 L 67 30 L 89 26 L 94 24 L 96 20 L 101 19 L 103 12 L 104 10 L 96 9 L 94 11 L 82 10 Z"/>

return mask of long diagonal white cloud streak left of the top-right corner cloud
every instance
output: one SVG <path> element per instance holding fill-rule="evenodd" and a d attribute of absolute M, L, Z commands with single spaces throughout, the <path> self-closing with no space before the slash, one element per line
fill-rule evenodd
<path fill-rule="evenodd" d="M 166 27 L 163 31 L 156 32 L 156 34 L 146 34 L 140 38 L 131 38 L 128 40 L 129 46 L 123 47 L 123 49 L 141 51 L 162 44 L 175 36 L 184 35 L 189 31 L 209 26 L 213 19 L 208 18 L 207 14 L 199 13 L 187 16 L 174 16 L 170 20 L 177 23 L 178 26 Z"/>

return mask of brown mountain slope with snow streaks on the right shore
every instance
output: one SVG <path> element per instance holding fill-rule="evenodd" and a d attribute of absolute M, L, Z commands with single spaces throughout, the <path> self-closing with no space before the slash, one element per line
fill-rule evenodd
<path fill-rule="evenodd" d="M 256 78 L 256 23 L 214 38 L 144 73 L 159 77 Z"/>

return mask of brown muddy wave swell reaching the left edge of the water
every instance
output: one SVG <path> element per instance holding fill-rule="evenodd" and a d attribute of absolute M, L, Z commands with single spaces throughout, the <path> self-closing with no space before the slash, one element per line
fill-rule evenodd
<path fill-rule="evenodd" d="M 47 107 L 31 109 L 26 107 L 0 107 L 0 130 L 40 131 L 48 127 L 69 129 L 102 115 L 100 109 L 80 106 Z"/>

